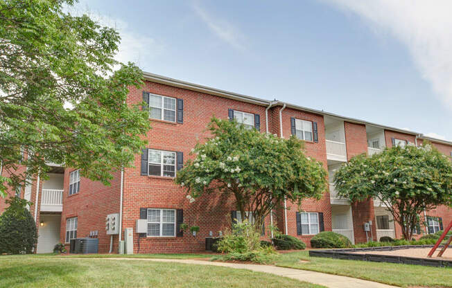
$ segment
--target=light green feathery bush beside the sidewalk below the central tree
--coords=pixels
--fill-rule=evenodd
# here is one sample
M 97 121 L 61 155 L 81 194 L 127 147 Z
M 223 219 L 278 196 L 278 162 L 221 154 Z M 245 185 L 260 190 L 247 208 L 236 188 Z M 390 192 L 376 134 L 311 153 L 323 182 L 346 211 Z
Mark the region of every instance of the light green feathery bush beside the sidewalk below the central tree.
M 261 233 L 246 220 L 232 225 L 232 231 L 227 231 L 216 246 L 223 255 L 215 256 L 221 261 L 251 261 L 270 263 L 277 255 L 273 246 L 261 245 Z

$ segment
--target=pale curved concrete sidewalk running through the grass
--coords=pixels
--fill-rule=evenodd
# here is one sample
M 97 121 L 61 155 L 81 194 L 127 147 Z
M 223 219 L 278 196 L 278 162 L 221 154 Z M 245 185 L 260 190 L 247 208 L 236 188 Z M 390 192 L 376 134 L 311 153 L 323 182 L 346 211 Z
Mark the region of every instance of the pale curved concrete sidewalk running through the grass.
M 86 259 L 86 258 L 67 258 L 67 259 Z M 292 268 L 276 267 L 270 265 L 257 265 L 257 264 L 237 264 L 226 262 L 211 262 L 204 260 L 182 260 L 182 259 L 157 259 L 157 258 L 89 258 L 89 259 L 102 259 L 102 260 L 141 260 L 141 261 L 155 261 L 155 262 L 176 262 L 184 264 L 197 264 L 197 265 L 214 265 L 221 267 L 229 267 L 235 269 L 247 269 L 256 272 L 270 273 L 277 276 L 284 276 L 288 278 L 297 279 L 300 281 L 311 282 L 313 284 L 324 285 L 331 288 L 389 288 L 396 287 L 381 284 L 379 282 L 372 282 L 367 280 L 361 280 L 357 278 L 351 278 L 346 276 L 337 276 L 327 273 L 320 273 L 314 271 L 306 271 Z

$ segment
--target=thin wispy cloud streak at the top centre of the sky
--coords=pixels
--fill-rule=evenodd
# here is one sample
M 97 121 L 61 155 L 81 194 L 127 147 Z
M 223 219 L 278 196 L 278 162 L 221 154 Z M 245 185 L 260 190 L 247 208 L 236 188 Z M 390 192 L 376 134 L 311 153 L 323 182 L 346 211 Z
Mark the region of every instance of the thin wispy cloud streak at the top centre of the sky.
M 239 51 L 245 50 L 245 36 L 234 28 L 232 24 L 224 19 L 211 15 L 210 12 L 202 8 L 196 1 L 193 2 L 192 7 L 196 15 L 200 17 L 216 37 Z

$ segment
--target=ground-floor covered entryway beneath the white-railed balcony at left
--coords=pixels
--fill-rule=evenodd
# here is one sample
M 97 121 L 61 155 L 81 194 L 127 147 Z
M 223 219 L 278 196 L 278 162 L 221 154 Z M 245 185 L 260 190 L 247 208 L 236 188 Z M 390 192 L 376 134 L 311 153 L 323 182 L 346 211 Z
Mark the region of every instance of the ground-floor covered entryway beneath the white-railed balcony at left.
M 53 247 L 60 242 L 61 214 L 41 214 L 37 237 L 37 253 L 52 253 Z

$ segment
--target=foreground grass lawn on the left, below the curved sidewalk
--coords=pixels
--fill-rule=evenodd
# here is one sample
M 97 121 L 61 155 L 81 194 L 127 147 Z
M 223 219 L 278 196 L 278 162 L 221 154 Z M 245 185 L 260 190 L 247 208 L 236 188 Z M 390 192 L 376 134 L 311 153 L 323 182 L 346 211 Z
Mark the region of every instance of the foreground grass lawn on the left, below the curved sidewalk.
M 204 265 L 143 260 L 0 256 L 0 287 L 322 286 L 267 273 Z

